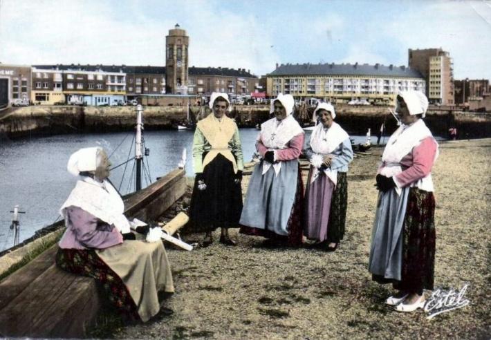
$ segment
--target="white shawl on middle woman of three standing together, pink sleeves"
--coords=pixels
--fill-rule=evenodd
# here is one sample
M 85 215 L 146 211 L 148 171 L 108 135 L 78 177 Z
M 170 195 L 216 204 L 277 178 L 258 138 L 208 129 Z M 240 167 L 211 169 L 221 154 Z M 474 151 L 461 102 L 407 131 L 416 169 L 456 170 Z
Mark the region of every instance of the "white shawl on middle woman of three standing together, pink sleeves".
M 292 115 L 288 115 L 284 120 L 278 121 L 276 118 L 271 118 L 261 124 L 258 140 L 261 140 L 264 146 L 268 148 L 268 151 L 275 151 L 286 149 L 288 142 L 300 133 L 304 133 L 304 130 Z M 268 172 L 271 166 L 275 169 L 276 176 L 278 176 L 281 170 L 281 161 L 276 164 L 264 161 L 262 174 L 264 175 Z

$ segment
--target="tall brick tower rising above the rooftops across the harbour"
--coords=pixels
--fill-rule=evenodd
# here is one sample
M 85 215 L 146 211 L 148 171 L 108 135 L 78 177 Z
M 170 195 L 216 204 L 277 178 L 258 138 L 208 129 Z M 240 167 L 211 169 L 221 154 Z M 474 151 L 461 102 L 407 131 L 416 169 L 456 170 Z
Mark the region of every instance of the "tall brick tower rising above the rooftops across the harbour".
M 166 93 L 187 94 L 187 68 L 189 37 L 176 23 L 165 37 L 165 84 Z

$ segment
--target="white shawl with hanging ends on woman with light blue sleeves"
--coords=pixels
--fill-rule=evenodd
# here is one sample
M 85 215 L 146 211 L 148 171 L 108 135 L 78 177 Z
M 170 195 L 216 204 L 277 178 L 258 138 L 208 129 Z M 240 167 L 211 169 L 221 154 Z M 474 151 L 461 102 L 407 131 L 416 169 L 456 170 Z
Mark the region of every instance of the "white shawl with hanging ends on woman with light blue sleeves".
M 319 177 L 319 168 L 322 165 L 323 155 L 332 153 L 339 145 L 349 138 L 348 133 L 342 129 L 340 124 L 333 122 L 329 129 L 324 129 L 322 123 L 317 124 L 311 135 L 311 148 L 314 155 L 311 158 L 314 171 L 312 174 L 311 182 L 315 181 Z M 317 160 L 315 160 L 317 158 Z M 319 164 L 318 160 L 322 160 Z M 337 184 L 337 170 L 331 168 L 324 169 L 324 173 L 334 185 Z

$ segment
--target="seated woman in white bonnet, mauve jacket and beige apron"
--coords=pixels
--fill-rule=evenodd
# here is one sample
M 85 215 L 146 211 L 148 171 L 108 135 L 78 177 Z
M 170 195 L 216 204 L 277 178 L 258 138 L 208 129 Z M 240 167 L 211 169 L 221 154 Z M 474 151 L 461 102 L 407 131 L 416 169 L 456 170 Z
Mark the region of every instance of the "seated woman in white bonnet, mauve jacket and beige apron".
M 68 171 L 80 175 L 60 209 L 66 232 L 59 241 L 57 265 L 102 284 L 109 301 L 131 319 L 148 321 L 160 310 L 158 292 L 174 292 L 162 241 L 124 240 L 130 224 L 122 199 L 106 180 L 111 163 L 103 149 L 80 149 Z

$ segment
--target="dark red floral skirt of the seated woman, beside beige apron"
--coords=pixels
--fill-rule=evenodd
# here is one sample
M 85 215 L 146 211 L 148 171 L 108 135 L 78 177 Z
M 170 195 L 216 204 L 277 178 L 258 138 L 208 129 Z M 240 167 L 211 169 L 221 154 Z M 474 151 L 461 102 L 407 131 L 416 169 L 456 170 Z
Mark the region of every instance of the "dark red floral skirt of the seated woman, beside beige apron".
M 131 320 L 138 320 L 136 304 L 121 278 L 109 268 L 93 249 L 62 249 L 56 254 L 56 264 L 62 270 L 73 274 L 95 278 L 109 301 Z

